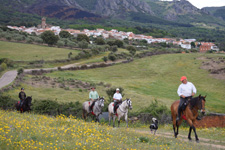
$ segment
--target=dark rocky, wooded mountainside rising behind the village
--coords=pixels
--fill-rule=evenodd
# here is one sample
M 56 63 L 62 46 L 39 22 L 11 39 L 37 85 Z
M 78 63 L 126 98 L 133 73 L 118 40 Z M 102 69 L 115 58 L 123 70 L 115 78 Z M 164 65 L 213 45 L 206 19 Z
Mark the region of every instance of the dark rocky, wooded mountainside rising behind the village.
M 0 3 L 0 25 L 33 26 L 45 16 L 49 24 L 61 27 L 88 23 L 141 29 L 157 37 L 173 35 L 208 41 L 225 38 L 220 30 L 225 29 L 224 8 L 198 9 L 187 0 L 0 0 Z

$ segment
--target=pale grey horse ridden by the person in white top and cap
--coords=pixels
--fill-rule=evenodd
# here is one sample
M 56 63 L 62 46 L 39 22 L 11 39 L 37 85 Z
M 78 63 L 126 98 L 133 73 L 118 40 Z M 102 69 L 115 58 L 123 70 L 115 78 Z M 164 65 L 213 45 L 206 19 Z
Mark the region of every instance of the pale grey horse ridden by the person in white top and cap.
M 128 108 L 129 109 L 132 109 L 132 101 L 131 99 L 126 99 L 124 100 L 120 105 L 119 107 L 117 108 L 116 110 L 116 114 L 113 113 L 113 107 L 114 106 L 114 102 L 111 102 L 108 106 L 108 111 L 109 111 L 109 126 L 111 124 L 111 118 L 113 117 L 113 127 L 115 127 L 115 119 L 116 119 L 116 116 L 118 117 L 118 127 L 120 125 L 120 118 L 121 117 L 125 117 L 125 121 L 127 123 L 127 127 L 128 127 L 128 120 L 127 120 L 127 117 L 128 117 Z

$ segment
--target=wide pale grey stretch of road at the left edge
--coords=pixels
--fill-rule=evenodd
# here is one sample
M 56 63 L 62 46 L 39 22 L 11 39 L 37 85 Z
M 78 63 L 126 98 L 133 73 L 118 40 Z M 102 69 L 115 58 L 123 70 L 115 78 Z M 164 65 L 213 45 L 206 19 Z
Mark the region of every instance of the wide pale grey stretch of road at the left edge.
M 3 74 L 3 76 L 0 78 L 0 89 L 13 82 L 16 76 L 17 76 L 16 70 L 8 71 L 5 74 Z

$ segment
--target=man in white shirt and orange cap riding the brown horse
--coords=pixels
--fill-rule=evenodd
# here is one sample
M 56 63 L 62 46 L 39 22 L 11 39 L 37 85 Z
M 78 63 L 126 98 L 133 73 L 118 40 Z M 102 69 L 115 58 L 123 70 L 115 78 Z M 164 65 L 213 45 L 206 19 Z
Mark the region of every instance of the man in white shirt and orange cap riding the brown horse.
M 182 105 L 188 100 L 191 99 L 192 96 L 194 96 L 197 92 L 194 84 L 187 81 L 186 76 L 182 76 L 180 78 L 180 81 L 182 82 L 180 86 L 178 87 L 177 94 L 180 96 L 180 104 L 178 106 L 178 116 L 176 118 L 177 121 L 180 120 L 180 114 L 181 114 L 181 107 Z

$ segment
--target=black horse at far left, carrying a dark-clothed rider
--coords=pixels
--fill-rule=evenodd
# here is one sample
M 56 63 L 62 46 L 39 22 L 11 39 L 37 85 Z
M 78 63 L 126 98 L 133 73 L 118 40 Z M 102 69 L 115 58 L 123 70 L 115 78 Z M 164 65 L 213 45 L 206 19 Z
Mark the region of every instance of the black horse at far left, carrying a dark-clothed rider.
M 30 111 L 31 108 L 31 101 L 32 101 L 32 96 L 28 96 L 26 97 L 26 99 L 23 101 L 23 104 L 22 106 L 20 106 L 20 101 L 18 101 L 16 104 L 15 104 L 15 107 L 16 107 L 16 110 L 17 111 L 20 111 L 21 113 L 25 112 L 25 111 Z

